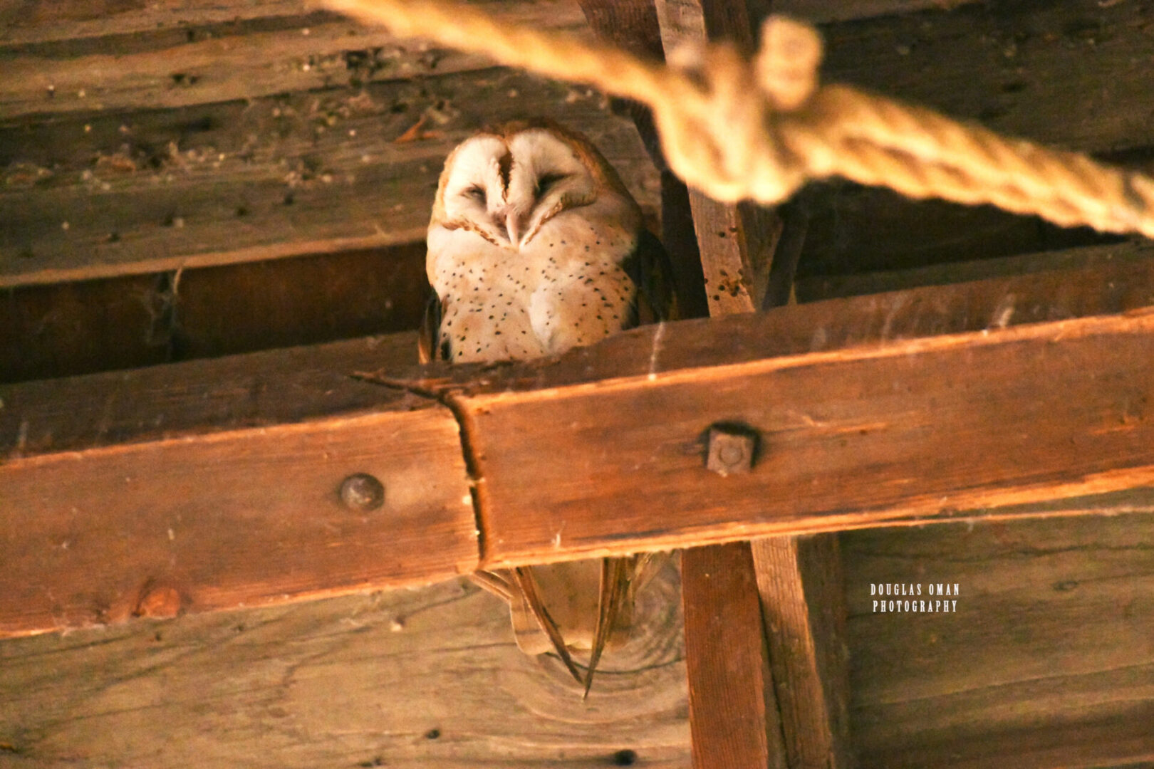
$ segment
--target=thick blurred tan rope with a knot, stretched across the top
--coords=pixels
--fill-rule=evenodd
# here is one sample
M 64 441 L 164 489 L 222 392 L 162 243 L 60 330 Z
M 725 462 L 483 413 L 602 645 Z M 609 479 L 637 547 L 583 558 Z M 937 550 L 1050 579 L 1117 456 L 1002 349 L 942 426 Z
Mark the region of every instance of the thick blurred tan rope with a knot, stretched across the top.
M 727 44 L 680 48 L 668 66 L 619 48 L 499 24 L 440 0 L 321 0 L 399 37 L 486 54 L 650 106 L 669 167 L 722 202 L 771 205 L 811 179 L 842 176 L 908 197 L 992 203 L 1062 226 L 1154 238 L 1154 180 L 962 125 L 844 85 L 818 85 L 817 32 L 762 27 L 752 61 Z

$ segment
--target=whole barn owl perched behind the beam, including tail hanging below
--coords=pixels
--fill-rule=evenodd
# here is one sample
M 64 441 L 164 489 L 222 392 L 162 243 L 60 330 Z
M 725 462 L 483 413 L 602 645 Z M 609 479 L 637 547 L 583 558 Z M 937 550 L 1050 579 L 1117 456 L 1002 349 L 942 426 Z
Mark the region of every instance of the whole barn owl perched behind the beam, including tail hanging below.
M 435 295 L 422 362 L 527 360 L 673 317 L 668 257 L 589 140 L 552 121 L 484 130 L 448 157 L 428 229 Z M 649 556 L 474 575 L 509 602 L 517 644 L 555 650 L 585 693 L 630 621 Z M 584 680 L 570 649 L 589 650 Z

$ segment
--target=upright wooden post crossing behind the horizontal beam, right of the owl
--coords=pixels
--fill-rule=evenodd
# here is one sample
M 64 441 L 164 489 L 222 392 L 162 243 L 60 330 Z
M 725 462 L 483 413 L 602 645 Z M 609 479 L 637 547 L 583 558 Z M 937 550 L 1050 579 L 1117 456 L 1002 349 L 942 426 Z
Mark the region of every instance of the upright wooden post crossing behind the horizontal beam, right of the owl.
M 751 53 L 754 30 L 767 10 L 757 0 L 655 0 L 655 6 L 667 52 L 724 37 Z M 692 189 L 689 201 L 710 315 L 787 302 L 804 217 L 792 223 L 787 252 L 775 265 L 784 229 L 777 212 L 719 203 Z M 834 535 L 687 550 L 682 586 L 694 766 L 849 766 Z

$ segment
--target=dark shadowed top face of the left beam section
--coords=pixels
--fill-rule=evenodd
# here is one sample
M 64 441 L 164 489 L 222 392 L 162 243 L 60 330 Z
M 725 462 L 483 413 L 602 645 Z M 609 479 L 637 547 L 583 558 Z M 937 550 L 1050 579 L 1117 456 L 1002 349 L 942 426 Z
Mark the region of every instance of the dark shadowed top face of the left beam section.
M 417 333 L 0 385 L 0 461 L 298 424 L 428 399 L 357 382 L 362 367 L 404 368 Z

